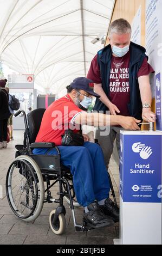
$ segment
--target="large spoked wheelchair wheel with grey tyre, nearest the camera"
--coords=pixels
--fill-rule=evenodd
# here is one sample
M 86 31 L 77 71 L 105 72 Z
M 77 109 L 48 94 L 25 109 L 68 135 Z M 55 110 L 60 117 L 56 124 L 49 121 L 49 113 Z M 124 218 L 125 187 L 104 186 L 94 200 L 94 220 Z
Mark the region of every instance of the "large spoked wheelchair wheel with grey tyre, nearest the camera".
M 25 222 L 36 220 L 44 202 L 40 168 L 31 157 L 22 155 L 11 163 L 6 179 L 7 198 L 14 214 Z

